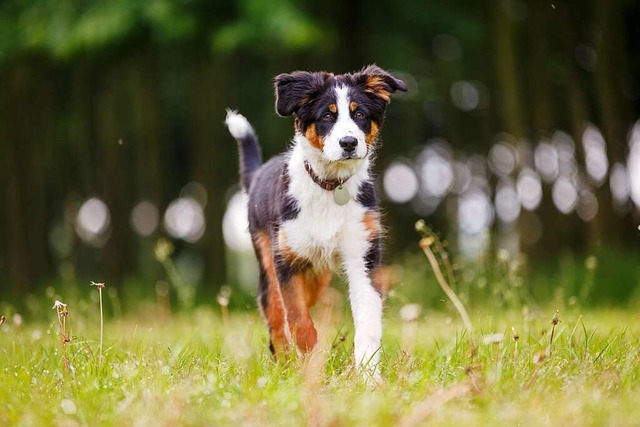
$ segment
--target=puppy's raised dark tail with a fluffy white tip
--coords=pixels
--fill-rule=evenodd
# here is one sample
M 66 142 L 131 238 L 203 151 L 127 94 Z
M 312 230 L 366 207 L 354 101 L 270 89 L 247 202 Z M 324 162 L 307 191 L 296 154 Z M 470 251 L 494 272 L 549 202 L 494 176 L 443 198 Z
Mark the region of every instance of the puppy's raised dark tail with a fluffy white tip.
M 225 119 L 229 133 L 238 141 L 240 155 L 240 181 L 245 190 L 249 190 L 255 171 L 262 164 L 262 153 L 258 138 L 251 124 L 242 114 L 227 110 Z

